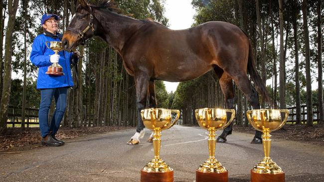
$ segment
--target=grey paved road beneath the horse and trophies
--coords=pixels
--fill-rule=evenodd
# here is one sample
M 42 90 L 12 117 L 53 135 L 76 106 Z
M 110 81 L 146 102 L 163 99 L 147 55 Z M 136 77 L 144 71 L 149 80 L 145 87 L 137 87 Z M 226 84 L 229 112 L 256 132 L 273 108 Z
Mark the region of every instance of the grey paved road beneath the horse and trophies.
M 0 153 L 0 182 L 139 182 L 141 168 L 153 158 L 153 145 L 126 145 L 134 131 L 80 137 L 63 147 Z M 199 127 L 174 126 L 162 132 L 161 157 L 174 169 L 174 182 L 194 181 L 195 169 L 208 158 L 206 136 Z M 216 159 L 229 171 L 229 182 L 249 182 L 250 169 L 263 158 L 262 145 L 249 143 L 252 137 L 233 132 L 228 143 L 216 144 Z M 286 182 L 324 182 L 324 146 L 273 139 L 271 149 Z M 110 174 L 86 175 L 103 170 Z

